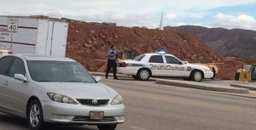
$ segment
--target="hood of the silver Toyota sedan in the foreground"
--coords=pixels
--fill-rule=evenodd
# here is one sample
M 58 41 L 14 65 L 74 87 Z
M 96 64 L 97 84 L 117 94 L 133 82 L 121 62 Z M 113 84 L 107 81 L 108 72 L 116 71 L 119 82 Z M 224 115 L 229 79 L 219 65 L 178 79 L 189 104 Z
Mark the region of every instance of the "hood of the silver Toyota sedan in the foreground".
M 60 93 L 73 99 L 113 99 L 118 93 L 102 83 L 84 82 L 38 82 L 48 91 Z

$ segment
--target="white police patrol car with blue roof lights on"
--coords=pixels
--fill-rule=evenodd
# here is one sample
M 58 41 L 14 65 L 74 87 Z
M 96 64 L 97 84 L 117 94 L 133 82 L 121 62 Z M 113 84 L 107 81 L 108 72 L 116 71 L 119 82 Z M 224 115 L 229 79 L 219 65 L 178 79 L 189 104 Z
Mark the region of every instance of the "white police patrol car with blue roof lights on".
M 142 81 L 147 81 L 150 76 L 172 76 L 201 82 L 203 78 L 213 76 L 209 67 L 185 63 L 165 52 L 141 54 L 133 60 L 119 60 L 117 72 Z

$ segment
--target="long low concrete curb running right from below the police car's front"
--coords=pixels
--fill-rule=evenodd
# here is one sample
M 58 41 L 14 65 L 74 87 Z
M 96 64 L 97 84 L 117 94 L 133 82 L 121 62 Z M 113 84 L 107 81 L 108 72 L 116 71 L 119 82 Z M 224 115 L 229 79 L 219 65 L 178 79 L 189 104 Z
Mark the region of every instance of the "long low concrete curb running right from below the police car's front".
M 207 91 L 218 91 L 218 92 L 227 92 L 227 93 L 249 93 L 249 89 L 247 88 L 233 88 L 226 87 L 221 85 L 214 85 L 209 83 L 202 82 L 186 82 L 186 81 L 174 81 L 174 80 L 162 80 L 157 79 L 155 81 L 158 84 L 172 85 L 182 88 L 195 88 Z

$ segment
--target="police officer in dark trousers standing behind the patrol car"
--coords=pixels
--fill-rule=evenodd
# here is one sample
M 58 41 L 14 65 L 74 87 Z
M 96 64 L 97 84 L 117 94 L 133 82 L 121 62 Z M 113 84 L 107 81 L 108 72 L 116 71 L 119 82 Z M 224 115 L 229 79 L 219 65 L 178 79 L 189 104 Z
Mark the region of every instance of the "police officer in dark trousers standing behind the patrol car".
M 118 80 L 119 78 L 116 76 L 116 58 L 118 56 L 119 51 L 116 50 L 116 47 L 114 45 L 111 46 L 110 50 L 108 51 L 108 65 L 107 65 L 107 71 L 105 77 L 108 79 L 108 73 L 111 68 L 113 68 L 113 79 Z

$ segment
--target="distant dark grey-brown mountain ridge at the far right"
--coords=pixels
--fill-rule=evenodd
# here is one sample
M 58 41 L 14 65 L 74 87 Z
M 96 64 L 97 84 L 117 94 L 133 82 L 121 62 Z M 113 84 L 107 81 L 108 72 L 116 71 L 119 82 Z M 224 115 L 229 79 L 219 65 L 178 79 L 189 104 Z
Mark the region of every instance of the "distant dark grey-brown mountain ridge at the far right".
M 192 33 L 200 37 L 218 54 L 243 59 L 256 58 L 256 31 L 206 28 L 194 25 L 167 26 L 165 30 Z

